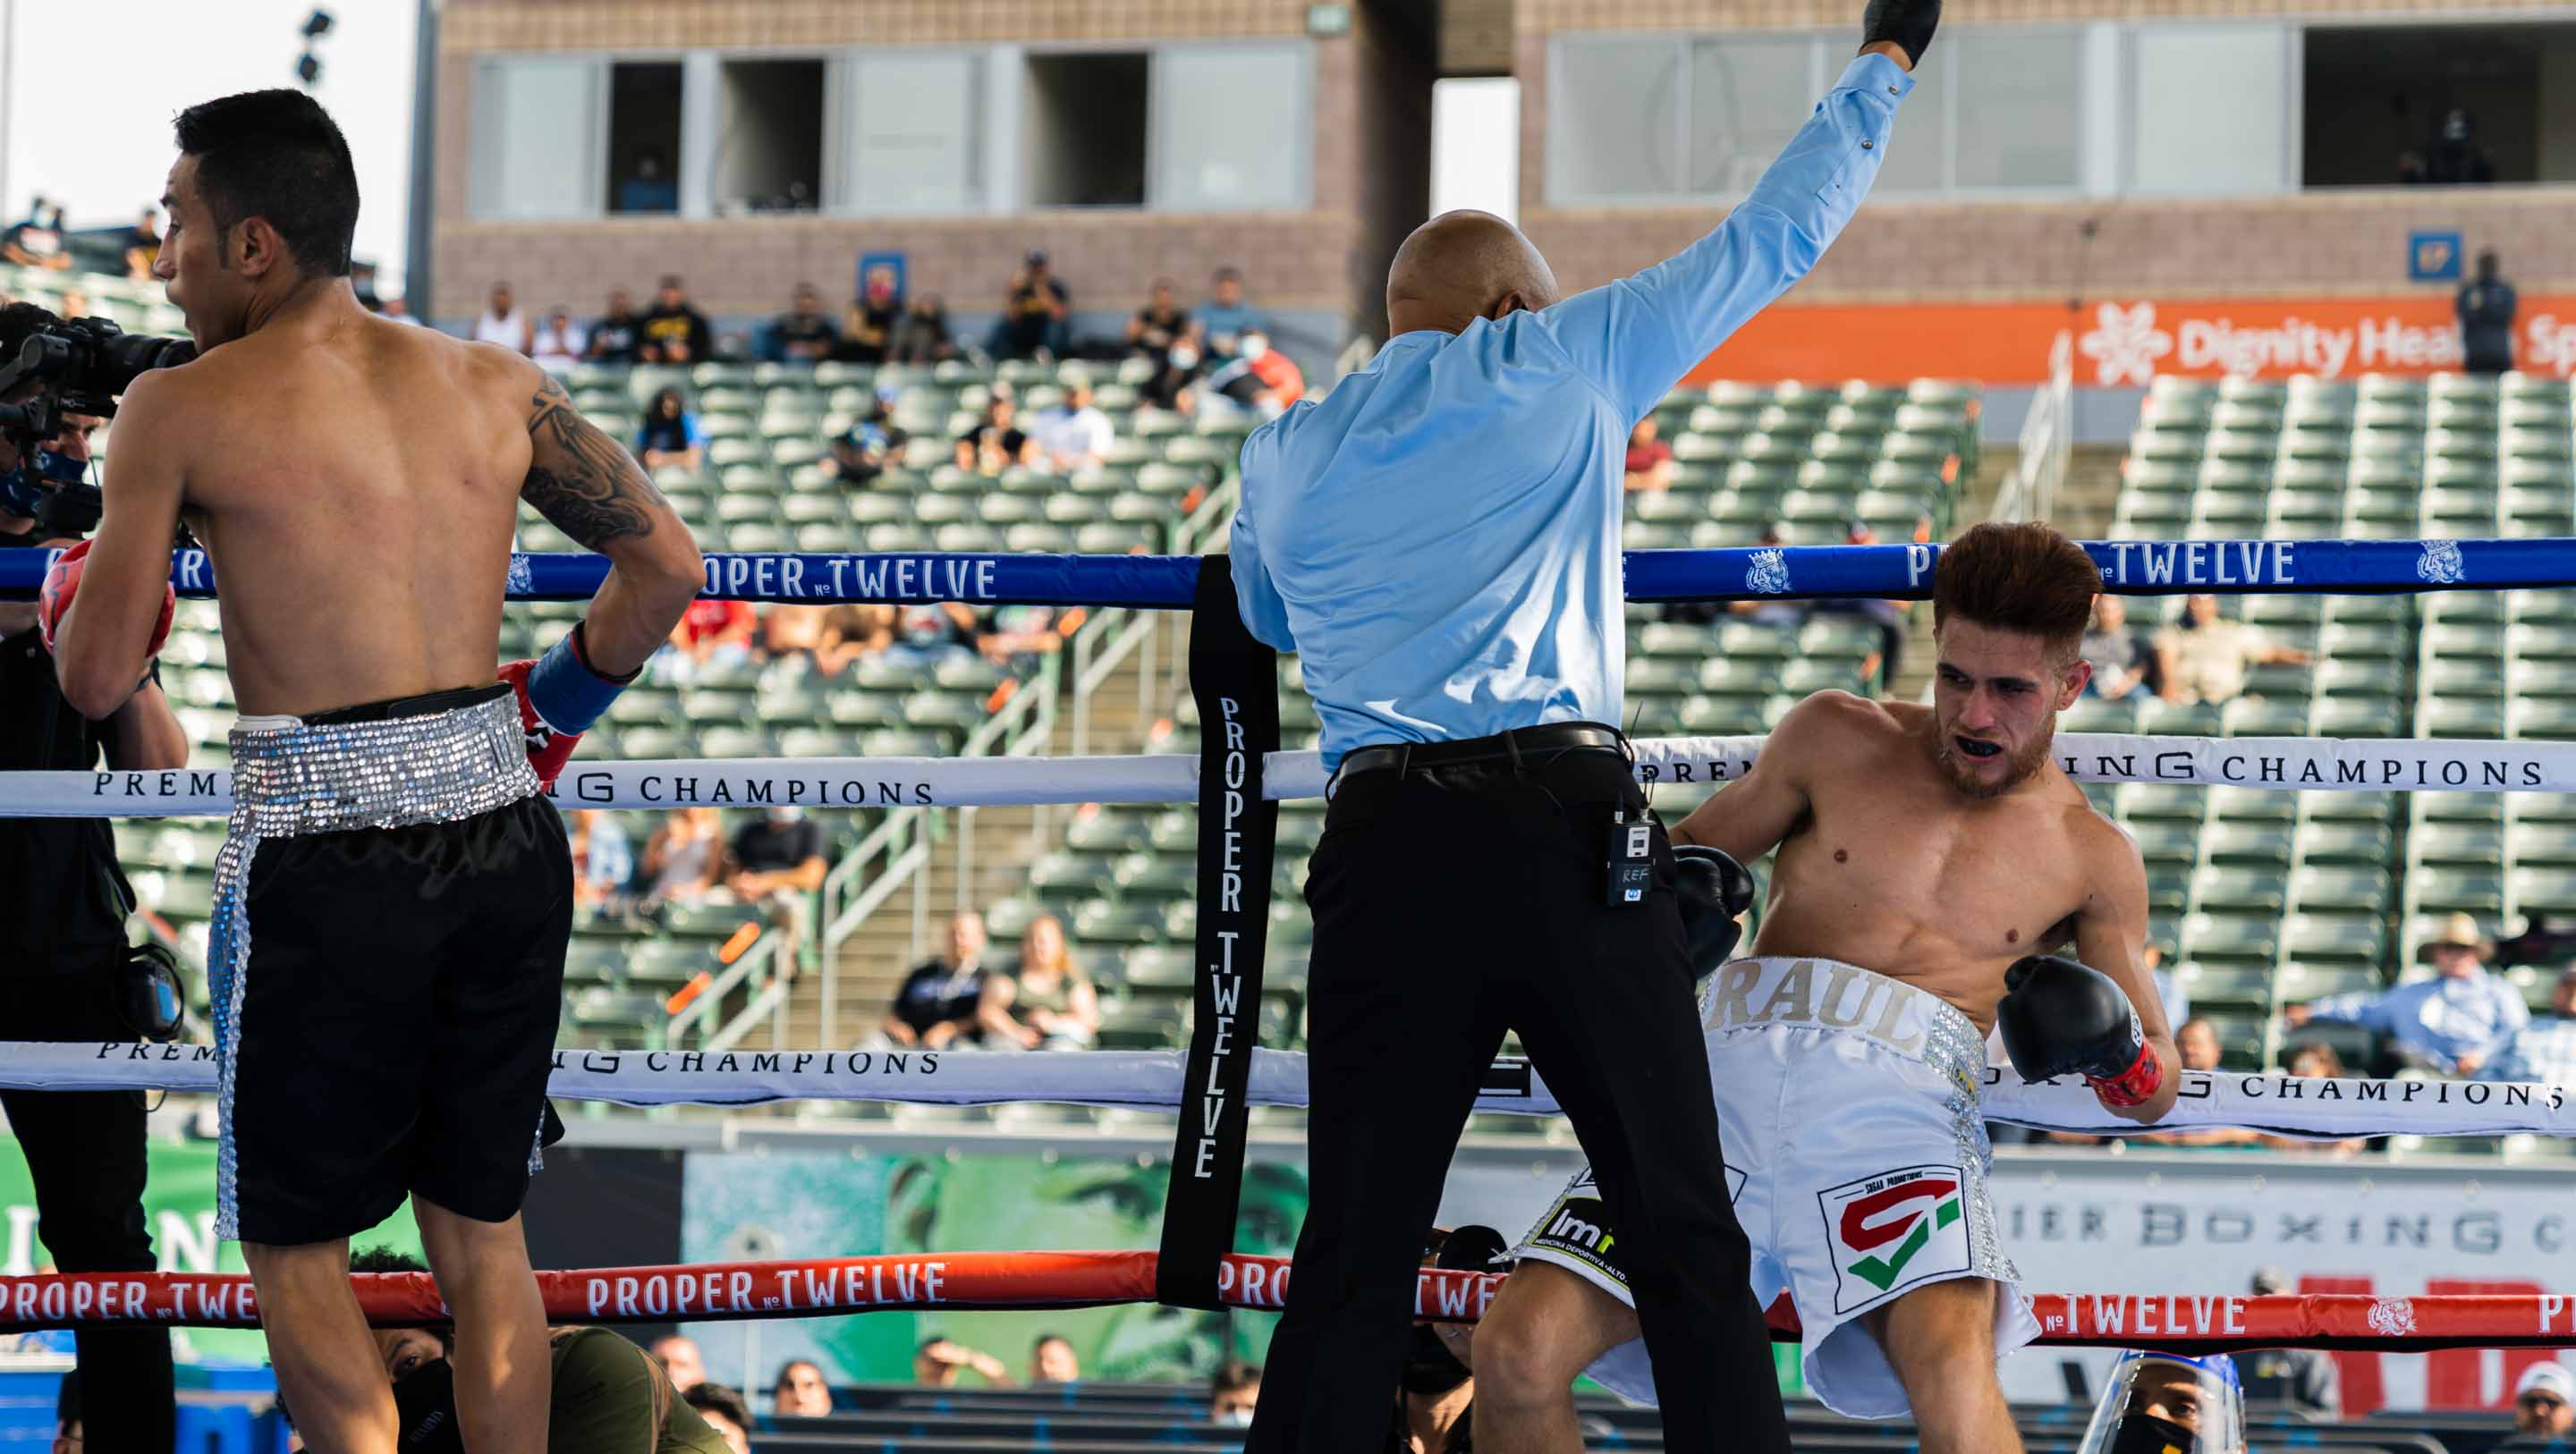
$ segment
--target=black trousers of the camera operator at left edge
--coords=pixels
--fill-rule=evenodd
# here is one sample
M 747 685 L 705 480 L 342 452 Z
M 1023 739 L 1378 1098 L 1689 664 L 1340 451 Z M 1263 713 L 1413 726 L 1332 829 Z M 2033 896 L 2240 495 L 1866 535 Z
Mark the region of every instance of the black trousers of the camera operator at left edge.
M 124 952 L 93 970 L 0 978 L 10 1040 L 134 1040 L 118 1011 Z M 36 1184 L 36 1238 L 57 1271 L 152 1271 L 142 1091 L 5 1091 L 0 1109 Z M 178 1439 L 167 1328 L 77 1328 L 88 1449 L 157 1454 Z

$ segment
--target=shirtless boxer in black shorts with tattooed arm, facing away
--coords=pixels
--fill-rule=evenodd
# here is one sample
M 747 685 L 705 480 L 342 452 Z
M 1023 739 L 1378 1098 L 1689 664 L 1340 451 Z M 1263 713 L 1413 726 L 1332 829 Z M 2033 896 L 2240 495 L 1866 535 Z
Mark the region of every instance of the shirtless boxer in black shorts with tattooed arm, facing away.
M 180 520 L 222 589 L 232 836 L 209 980 L 222 1235 L 309 1449 L 394 1454 L 348 1238 L 404 1197 L 456 1315 L 466 1449 L 546 1449 L 536 1168 L 572 924 L 541 787 L 670 636 L 698 546 L 526 358 L 350 291 L 358 180 L 304 93 L 188 108 L 155 275 L 198 360 L 118 409 L 106 515 L 41 620 L 103 718 L 144 674 Z M 590 615 L 492 661 L 518 502 L 611 558 Z

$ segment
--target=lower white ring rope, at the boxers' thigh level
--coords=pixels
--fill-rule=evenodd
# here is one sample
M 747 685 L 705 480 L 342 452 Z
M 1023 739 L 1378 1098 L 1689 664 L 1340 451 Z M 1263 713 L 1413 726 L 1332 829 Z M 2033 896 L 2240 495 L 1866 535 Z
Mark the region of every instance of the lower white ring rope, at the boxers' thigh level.
M 1175 1112 L 1182 1050 L 556 1050 L 549 1096 L 621 1107 L 750 1107 L 765 1101 L 902 1101 L 994 1107 L 1048 1101 Z M 1499 1060 L 1479 1112 L 1561 1114 L 1528 1063 Z M 0 1042 L 8 1091 L 214 1091 L 211 1045 Z M 1247 1101 L 1306 1104 L 1306 1055 L 1255 1050 Z M 1193 1096 L 1195 1104 L 1195 1096 Z M 2076 1081 L 2025 1083 L 1986 1071 L 1984 1119 L 2032 1130 L 2141 1135 L 2244 1127 L 2344 1140 L 2354 1135 L 2576 1135 L 2576 1089 L 2501 1081 L 2324 1081 L 2257 1071 L 2184 1071 L 2182 1096 L 2154 1127 L 2110 1114 Z

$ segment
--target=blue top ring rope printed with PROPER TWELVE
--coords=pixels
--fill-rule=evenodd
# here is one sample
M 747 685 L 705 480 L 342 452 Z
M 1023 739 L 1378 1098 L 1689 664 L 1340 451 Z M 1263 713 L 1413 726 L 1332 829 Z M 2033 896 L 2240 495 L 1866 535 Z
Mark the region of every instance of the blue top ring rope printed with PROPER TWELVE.
M 2524 540 L 2089 540 L 2117 594 L 2391 594 L 2576 587 L 2576 538 Z M 1927 600 L 1940 546 L 1628 551 L 1628 600 Z M 52 551 L 0 551 L 0 600 L 33 600 Z M 510 600 L 590 600 L 608 561 L 513 556 Z M 201 551 L 170 579 L 211 597 Z M 1198 556 L 706 556 L 711 600 L 1128 605 L 1188 610 Z

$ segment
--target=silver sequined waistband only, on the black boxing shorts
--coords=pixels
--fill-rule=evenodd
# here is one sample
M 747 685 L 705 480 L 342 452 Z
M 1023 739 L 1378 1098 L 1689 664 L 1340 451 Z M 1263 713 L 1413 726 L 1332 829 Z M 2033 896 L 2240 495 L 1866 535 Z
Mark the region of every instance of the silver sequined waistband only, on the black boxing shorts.
M 536 793 L 518 703 L 314 726 L 232 726 L 232 829 L 258 836 L 453 824 Z

